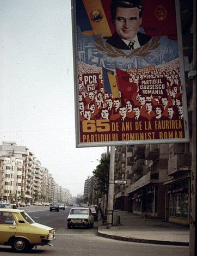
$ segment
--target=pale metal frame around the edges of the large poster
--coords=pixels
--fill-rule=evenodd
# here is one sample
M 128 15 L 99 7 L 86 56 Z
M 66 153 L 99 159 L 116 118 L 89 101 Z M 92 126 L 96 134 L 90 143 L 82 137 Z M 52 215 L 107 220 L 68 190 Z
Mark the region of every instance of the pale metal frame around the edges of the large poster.
M 72 41 L 73 41 L 73 74 L 74 74 L 74 93 L 75 93 L 75 124 L 76 124 L 76 147 L 103 147 L 103 146 L 118 146 L 118 145 L 138 145 L 138 144 L 160 144 L 160 143 L 186 143 L 189 142 L 189 127 L 187 115 L 187 100 L 186 100 L 186 84 L 184 77 L 183 64 L 183 48 L 182 48 L 182 33 L 181 33 L 181 15 L 179 0 L 175 0 L 176 6 L 176 25 L 178 37 L 178 58 L 180 61 L 180 78 L 182 87 L 183 100 L 183 115 L 184 115 L 184 138 L 168 138 L 168 139 L 144 139 L 132 141 L 105 141 L 105 142 L 80 142 L 80 126 L 79 126 L 79 100 L 78 100 L 78 50 L 77 50 L 77 19 L 76 19 L 76 2 L 71 0 L 72 9 Z

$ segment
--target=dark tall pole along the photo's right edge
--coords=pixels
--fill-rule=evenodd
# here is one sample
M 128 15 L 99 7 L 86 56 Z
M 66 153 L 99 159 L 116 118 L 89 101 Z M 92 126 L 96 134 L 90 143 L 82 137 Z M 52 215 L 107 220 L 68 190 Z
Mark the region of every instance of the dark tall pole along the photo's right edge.
M 189 256 L 197 255 L 197 182 L 196 182 L 196 0 L 194 0 L 193 20 L 193 63 L 189 71 L 189 78 L 193 79 L 193 113 L 192 113 L 192 181 L 191 181 L 191 205 L 190 205 L 190 234 L 189 234 Z

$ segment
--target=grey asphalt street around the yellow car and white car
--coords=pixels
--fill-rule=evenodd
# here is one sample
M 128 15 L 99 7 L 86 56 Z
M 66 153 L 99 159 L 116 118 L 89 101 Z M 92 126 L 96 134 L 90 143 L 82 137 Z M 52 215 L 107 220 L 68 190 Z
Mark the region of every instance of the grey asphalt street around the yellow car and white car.
M 50 212 L 48 206 L 31 206 L 21 208 L 28 212 L 34 221 L 56 229 L 56 240 L 53 246 L 38 246 L 23 255 L 94 255 L 94 256 L 188 256 L 189 248 L 184 246 L 150 245 L 148 243 L 132 243 L 97 236 L 97 225 L 93 229 L 67 229 L 66 217 L 70 208 L 59 212 Z M 9 246 L 0 246 L 0 256 L 13 256 Z

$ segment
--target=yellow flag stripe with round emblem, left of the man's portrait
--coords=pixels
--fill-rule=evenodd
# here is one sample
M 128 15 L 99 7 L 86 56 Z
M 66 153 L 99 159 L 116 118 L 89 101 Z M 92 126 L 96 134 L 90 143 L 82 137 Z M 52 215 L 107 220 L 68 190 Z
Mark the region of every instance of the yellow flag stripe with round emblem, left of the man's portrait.
M 83 34 L 93 35 L 94 33 L 95 35 L 102 34 L 103 37 L 111 36 L 112 32 L 104 14 L 101 0 L 83 0 L 83 4 L 93 28 L 93 31 L 84 31 Z

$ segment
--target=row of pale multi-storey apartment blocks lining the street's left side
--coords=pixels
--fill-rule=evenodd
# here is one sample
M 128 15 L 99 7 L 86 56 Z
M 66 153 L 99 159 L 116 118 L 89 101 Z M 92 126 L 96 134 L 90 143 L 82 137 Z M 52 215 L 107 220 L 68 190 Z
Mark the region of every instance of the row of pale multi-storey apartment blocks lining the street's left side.
M 3 142 L 0 145 L 0 200 L 30 204 L 62 202 L 63 191 L 27 147 Z

